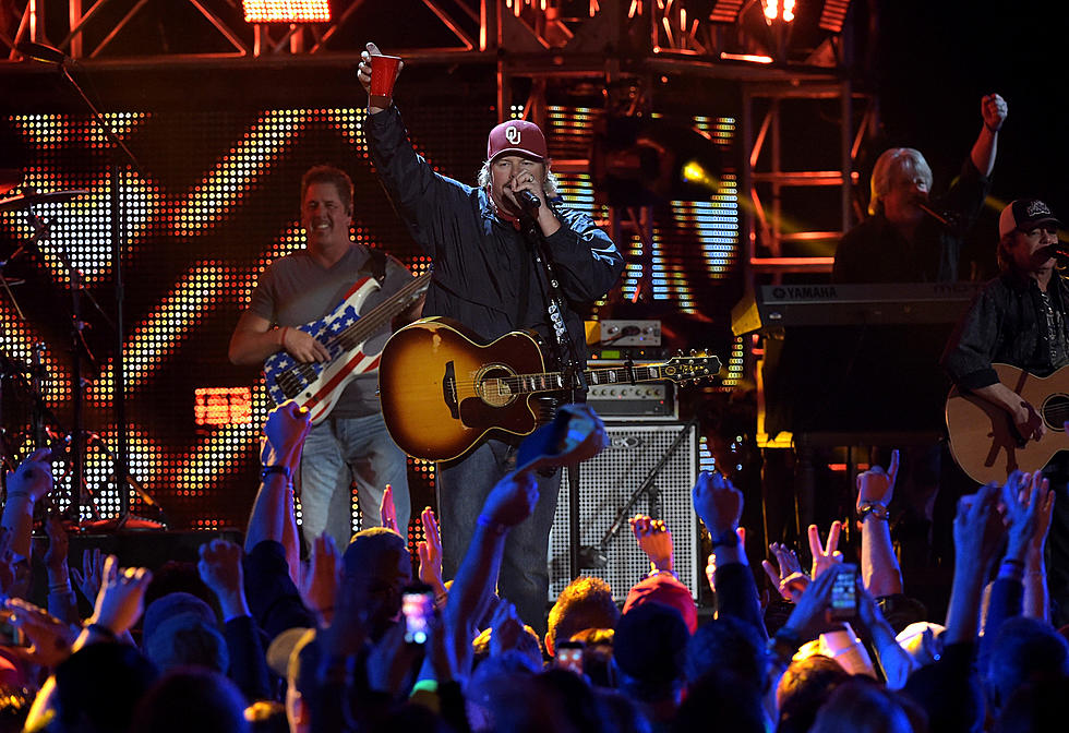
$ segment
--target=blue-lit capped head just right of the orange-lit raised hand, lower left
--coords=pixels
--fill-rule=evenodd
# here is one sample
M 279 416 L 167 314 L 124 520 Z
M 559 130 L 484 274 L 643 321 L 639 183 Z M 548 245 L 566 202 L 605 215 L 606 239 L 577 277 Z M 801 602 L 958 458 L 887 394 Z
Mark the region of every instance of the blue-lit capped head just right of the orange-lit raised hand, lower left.
M 191 664 L 226 672 L 230 665 L 215 613 L 190 593 L 168 593 L 145 609 L 142 649 L 161 672 Z

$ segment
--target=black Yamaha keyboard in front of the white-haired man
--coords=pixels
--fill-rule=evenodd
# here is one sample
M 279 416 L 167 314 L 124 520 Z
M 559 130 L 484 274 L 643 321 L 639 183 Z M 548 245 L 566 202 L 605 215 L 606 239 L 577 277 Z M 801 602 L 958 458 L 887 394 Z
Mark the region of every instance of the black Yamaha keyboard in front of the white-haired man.
M 953 324 L 983 287 L 983 283 L 766 285 L 758 289 L 756 303 L 744 300 L 733 309 L 732 329 L 741 335 L 783 326 Z

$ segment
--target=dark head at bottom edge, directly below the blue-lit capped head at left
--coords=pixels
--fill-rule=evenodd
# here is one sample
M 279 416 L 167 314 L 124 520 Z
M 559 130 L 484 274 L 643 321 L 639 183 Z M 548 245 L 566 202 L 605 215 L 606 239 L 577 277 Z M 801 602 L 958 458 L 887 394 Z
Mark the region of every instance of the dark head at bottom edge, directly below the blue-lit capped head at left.
M 141 699 L 131 733 L 248 733 L 245 701 L 227 677 L 205 669 L 172 670 Z

